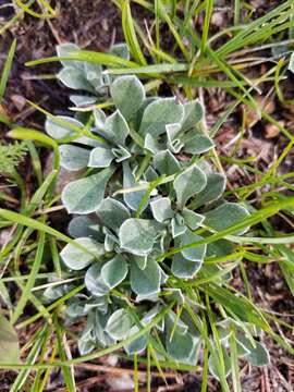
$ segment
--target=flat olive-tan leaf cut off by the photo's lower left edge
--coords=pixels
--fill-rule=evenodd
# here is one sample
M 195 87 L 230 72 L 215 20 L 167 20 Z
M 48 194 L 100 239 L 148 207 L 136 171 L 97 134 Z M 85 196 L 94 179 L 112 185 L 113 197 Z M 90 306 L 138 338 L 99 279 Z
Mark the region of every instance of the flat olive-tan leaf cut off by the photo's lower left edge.
M 0 315 L 0 366 L 1 363 L 19 364 L 20 362 L 17 333 L 9 320 Z

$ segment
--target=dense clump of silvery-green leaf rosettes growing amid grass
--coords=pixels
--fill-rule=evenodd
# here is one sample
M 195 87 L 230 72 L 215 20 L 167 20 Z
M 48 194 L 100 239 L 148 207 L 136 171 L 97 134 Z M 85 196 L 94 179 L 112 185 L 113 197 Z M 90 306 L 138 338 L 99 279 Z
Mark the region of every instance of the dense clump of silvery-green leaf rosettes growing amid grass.
M 69 79 L 78 75 L 91 83 L 103 75 L 98 66 L 85 76 L 88 65 L 82 65 L 66 63 L 60 79 L 84 88 L 88 84 Z M 233 335 L 238 356 L 267 364 L 267 351 L 255 340 L 259 315 L 250 319 L 238 308 L 223 318 L 216 311 L 212 333 L 201 317 L 200 294 L 191 289 L 213 278 L 213 295 L 225 297 L 230 271 L 206 260 L 218 260 L 234 245 L 211 241 L 211 234 L 249 216 L 243 205 L 224 200 L 225 176 L 204 155 L 215 144 L 203 132 L 201 103 L 146 97 L 134 75 L 108 79 L 103 94 L 109 96 L 106 111 L 96 105 L 87 115 L 46 122 L 49 135 L 59 139 L 61 164 L 83 171 L 62 192 L 63 205 L 74 215 L 69 233 L 76 246 L 68 244 L 60 254 L 65 268 L 85 282 L 85 292 L 66 309 L 73 320 L 87 317 L 81 353 L 122 342 L 127 354 L 151 347 L 158 358 L 195 365 L 205 343 L 211 348 L 210 371 L 220 377 L 221 366 L 230 370 Z M 256 323 L 262 328 L 264 322 Z M 222 360 L 213 351 L 215 333 Z

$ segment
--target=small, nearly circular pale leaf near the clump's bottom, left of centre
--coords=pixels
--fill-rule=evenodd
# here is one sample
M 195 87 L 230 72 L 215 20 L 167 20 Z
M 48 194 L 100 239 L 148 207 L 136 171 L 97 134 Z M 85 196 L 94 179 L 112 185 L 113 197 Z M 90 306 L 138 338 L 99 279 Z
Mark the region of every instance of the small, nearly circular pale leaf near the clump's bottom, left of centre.
M 106 331 L 111 338 L 123 340 L 131 335 L 130 331 L 133 324 L 134 320 L 130 311 L 126 309 L 119 309 L 108 319 Z

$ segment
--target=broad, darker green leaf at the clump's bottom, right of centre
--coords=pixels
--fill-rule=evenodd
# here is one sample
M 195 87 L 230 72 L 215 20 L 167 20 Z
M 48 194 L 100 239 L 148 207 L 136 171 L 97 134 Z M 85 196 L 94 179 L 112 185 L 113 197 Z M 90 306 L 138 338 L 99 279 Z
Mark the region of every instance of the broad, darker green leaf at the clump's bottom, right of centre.
M 196 340 L 189 332 L 181 333 L 175 328 L 173 334 L 166 335 L 166 348 L 169 355 L 176 362 L 189 363 L 192 353 L 195 351 Z M 191 364 L 189 364 L 191 365 Z

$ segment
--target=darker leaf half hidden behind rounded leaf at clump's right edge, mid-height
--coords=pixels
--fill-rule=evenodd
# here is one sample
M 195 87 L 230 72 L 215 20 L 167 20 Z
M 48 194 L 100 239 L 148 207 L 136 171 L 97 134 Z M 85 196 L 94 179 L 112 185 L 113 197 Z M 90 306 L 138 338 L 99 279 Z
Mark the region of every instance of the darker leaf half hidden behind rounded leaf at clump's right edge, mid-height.
M 206 203 L 217 200 L 225 189 L 225 176 L 219 173 L 208 173 L 206 175 L 206 187 L 197 194 L 195 203 L 196 206 L 203 206 Z

